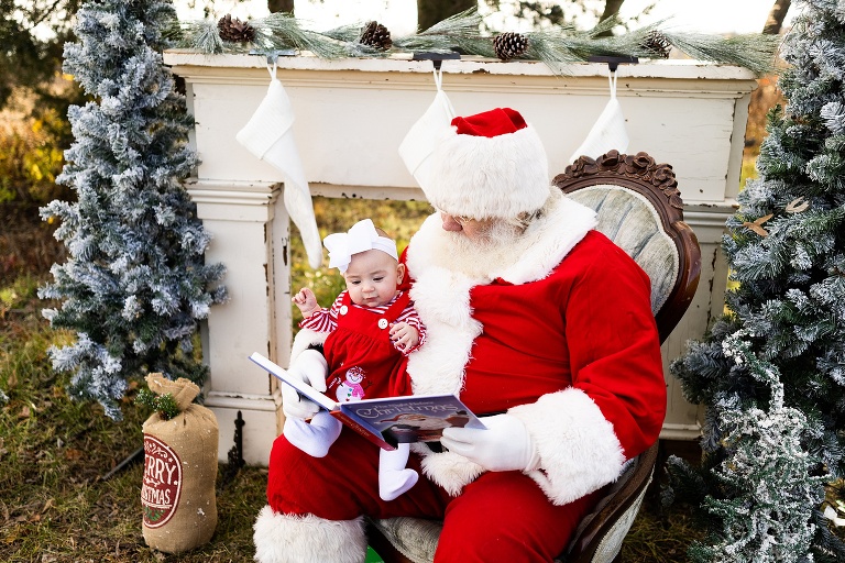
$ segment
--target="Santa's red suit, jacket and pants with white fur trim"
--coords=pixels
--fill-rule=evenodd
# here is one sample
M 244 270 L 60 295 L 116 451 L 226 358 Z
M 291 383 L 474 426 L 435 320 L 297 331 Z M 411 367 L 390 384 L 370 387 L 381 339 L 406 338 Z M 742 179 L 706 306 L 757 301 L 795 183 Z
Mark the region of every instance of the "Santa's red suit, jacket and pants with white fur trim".
M 414 391 L 454 393 L 478 413 L 518 417 L 536 470 L 484 473 L 416 444 L 409 466 L 427 478 L 385 503 L 377 450 L 353 432 L 344 429 L 323 459 L 282 437 L 256 558 L 325 558 L 311 551 L 319 537 L 338 543 L 332 560 L 354 561 L 365 545 L 362 515 L 445 518 L 436 561 L 551 561 L 562 551 L 595 492 L 657 440 L 666 409 L 649 280 L 594 225 L 592 210 L 552 189 L 518 244 L 496 256 L 454 252 L 437 214 L 406 253 L 428 339 L 408 361 Z M 311 542 L 292 544 L 298 536 Z M 273 559 L 279 550 L 295 555 Z

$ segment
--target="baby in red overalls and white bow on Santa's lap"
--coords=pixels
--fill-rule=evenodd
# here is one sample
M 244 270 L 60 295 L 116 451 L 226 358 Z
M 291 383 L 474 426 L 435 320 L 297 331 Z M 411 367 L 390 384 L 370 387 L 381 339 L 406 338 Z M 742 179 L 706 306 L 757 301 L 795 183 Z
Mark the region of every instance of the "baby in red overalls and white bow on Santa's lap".
M 345 291 L 328 309 L 320 308 L 308 288 L 292 301 L 303 313 L 300 328 L 328 333 L 326 394 L 340 402 L 407 395 L 407 355 L 422 345 L 426 331 L 407 291 L 398 289 L 405 265 L 398 262 L 396 243 L 364 219 L 347 233 L 330 234 L 323 244 L 329 266 L 343 275 Z M 288 418 L 284 434 L 304 452 L 322 457 L 340 429 L 337 419 L 321 411 L 310 424 Z M 417 472 L 405 467 L 408 452 L 408 444 L 381 451 L 378 493 L 384 500 L 393 500 L 417 483 Z

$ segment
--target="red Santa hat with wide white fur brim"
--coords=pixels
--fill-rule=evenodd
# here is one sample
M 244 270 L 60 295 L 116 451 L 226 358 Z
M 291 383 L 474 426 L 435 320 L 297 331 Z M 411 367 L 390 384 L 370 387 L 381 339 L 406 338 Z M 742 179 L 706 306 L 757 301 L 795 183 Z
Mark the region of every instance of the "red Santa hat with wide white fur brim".
M 551 189 L 539 135 L 509 108 L 454 118 L 430 165 L 430 181 L 420 187 L 453 216 L 513 219 L 541 208 Z

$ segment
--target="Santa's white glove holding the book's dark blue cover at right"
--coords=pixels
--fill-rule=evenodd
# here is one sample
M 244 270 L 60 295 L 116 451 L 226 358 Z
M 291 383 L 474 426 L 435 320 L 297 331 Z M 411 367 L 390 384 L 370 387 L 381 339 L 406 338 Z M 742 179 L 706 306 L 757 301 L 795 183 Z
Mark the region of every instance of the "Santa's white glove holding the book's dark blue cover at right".
M 511 415 L 496 415 L 482 420 L 486 430 L 447 428 L 440 443 L 487 471 L 530 471 L 540 456 L 525 424 Z

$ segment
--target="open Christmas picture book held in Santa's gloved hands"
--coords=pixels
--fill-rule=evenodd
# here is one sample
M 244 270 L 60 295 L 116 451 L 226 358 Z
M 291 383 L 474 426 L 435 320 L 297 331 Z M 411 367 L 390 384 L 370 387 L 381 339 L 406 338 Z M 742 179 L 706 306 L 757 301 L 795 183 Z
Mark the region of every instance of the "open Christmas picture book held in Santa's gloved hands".
M 440 440 L 445 428 L 485 428 L 454 395 L 410 395 L 338 402 L 255 352 L 250 360 L 384 450 L 398 443 Z

